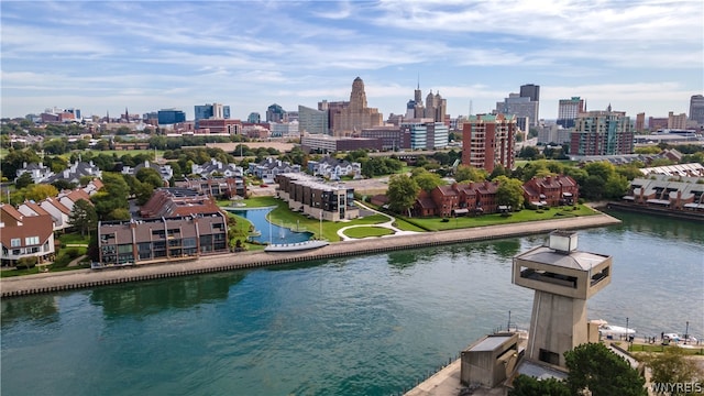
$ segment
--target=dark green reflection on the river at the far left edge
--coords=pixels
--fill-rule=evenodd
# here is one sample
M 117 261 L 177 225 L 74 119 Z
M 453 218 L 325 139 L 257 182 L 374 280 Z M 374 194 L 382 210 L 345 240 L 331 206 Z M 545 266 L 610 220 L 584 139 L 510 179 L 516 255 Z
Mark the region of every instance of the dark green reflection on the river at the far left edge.
M 3 298 L 0 301 L 2 327 L 24 320 L 54 322 L 58 320 L 58 296 L 35 295 Z

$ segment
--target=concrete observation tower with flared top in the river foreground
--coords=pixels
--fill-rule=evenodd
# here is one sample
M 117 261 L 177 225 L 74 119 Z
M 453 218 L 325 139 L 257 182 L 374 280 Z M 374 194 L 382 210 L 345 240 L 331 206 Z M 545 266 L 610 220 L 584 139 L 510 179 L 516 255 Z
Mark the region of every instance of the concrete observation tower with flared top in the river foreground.
M 610 283 L 612 256 L 576 248 L 576 232 L 554 231 L 547 246 L 514 257 L 512 282 L 536 290 L 527 359 L 564 367 L 564 352 L 598 341 L 586 300 Z

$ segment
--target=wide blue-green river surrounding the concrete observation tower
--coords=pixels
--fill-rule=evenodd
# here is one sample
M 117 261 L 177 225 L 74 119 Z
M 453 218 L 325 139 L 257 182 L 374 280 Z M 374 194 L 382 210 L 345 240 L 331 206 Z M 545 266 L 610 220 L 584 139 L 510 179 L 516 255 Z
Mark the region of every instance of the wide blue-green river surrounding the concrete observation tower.
M 579 249 L 614 256 L 590 319 L 704 336 L 704 227 L 615 212 Z M 1 301 L 11 395 L 389 395 L 497 327 L 527 328 L 512 257 L 547 235 Z

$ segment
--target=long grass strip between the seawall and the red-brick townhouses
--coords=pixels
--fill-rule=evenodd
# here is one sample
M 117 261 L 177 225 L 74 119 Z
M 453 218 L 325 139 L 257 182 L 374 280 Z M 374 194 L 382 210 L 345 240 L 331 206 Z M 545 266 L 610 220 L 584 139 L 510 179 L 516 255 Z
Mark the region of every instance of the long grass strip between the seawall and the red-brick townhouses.
M 502 217 L 499 213 L 493 213 L 493 215 L 483 215 L 480 217 L 452 218 L 446 222 L 443 222 L 442 219 L 438 217 L 413 218 L 408 220 L 430 231 L 442 231 L 442 230 L 455 230 L 455 229 L 472 228 L 472 227 L 518 223 L 518 222 L 525 222 L 525 221 L 550 220 L 550 219 L 559 219 L 563 217 L 590 216 L 595 213 L 592 209 L 583 205 L 579 205 L 576 208 L 578 208 L 576 210 L 572 210 L 572 207 L 551 208 L 548 210 L 542 210 L 542 212 L 540 210 L 524 209 L 519 212 L 514 212 L 509 217 Z

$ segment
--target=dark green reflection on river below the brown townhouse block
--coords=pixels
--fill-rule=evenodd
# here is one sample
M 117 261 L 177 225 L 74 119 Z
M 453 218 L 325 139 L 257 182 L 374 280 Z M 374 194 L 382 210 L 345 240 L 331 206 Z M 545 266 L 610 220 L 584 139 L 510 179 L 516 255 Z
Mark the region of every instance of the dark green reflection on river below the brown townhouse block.
M 228 298 L 230 287 L 245 277 L 245 272 L 179 277 L 154 282 L 99 287 L 90 301 L 102 307 L 106 318 L 144 317 L 169 308 L 190 308 Z

